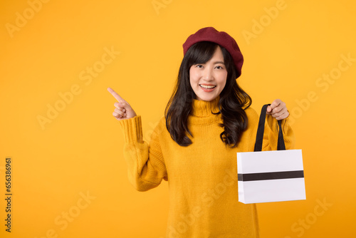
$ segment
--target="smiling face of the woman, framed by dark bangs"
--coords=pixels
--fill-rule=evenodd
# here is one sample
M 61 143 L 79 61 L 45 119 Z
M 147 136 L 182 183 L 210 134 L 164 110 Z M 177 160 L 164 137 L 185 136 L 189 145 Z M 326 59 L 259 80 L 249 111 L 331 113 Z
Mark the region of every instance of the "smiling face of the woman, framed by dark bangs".
M 219 46 L 209 61 L 195 64 L 189 70 L 190 86 L 197 100 L 214 100 L 224 89 L 226 78 L 224 56 Z

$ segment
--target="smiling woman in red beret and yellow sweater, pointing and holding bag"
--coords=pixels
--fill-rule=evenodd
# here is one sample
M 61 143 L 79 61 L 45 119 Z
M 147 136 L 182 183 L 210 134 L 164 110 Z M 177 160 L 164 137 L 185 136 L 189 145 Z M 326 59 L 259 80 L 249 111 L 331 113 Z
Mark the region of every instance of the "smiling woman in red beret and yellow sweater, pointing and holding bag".
M 129 179 L 139 191 L 169 185 L 167 237 L 259 237 L 256 205 L 239 201 L 236 152 L 253 151 L 258 114 L 236 83 L 244 58 L 234 38 L 212 27 L 183 44 L 177 86 L 165 115 L 142 140 L 141 117 L 117 99 L 114 117 L 125 134 Z M 276 150 L 282 120 L 286 148 L 293 148 L 288 110 L 268 107 L 263 150 Z

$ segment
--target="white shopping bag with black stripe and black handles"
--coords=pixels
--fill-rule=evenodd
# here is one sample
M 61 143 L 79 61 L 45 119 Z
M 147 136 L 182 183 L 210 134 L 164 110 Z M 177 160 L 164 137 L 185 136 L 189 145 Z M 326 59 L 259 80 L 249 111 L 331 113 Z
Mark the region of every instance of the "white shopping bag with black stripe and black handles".
M 261 151 L 266 109 L 263 105 L 254 152 L 237 153 L 239 202 L 305 200 L 301 150 L 286 150 L 278 121 L 278 150 Z

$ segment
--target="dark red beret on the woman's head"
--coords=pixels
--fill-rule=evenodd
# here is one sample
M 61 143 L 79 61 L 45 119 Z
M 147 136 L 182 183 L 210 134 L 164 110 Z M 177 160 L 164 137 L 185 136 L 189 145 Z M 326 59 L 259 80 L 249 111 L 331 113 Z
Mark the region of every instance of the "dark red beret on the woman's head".
M 244 57 L 242 56 L 242 53 L 236 41 L 228 33 L 224 31 L 216 31 L 214 27 L 206 27 L 200 29 L 196 33 L 190 35 L 187 38 L 187 41 L 184 42 L 184 55 L 185 53 L 187 53 L 190 46 L 194 45 L 194 43 L 197 43 L 199 41 L 211 41 L 214 43 L 218 43 L 220 46 L 226 48 L 226 50 L 229 51 L 232 58 L 234 59 L 236 70 L 239 73 L 237 77 L 241 75 L 241 67 L 244 63 Z

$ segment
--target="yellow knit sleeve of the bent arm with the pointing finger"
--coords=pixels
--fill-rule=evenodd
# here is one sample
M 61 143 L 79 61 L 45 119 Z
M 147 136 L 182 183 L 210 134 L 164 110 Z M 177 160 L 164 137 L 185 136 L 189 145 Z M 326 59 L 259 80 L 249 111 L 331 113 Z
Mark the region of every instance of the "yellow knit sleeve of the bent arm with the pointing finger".
M 142 139 L 140 115 L 119 122 L 125 135 L 124 157 L 128 177 L 135 189 L 147 191 L 157 187 L 162 179 L 167 181 L 167 170 L 159 145 L 158 127 L 153 131 L 149 145 Z

